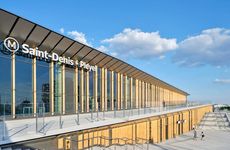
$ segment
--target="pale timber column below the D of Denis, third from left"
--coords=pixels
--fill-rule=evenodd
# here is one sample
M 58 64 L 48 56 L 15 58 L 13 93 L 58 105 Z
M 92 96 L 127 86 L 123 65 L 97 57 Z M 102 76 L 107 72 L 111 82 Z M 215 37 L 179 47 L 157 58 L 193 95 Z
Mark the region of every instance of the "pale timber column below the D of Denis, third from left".
M 50 82 L 50 112 L 54 115 L 54 62 L 51 61 L 49 65 L 49 82 Z

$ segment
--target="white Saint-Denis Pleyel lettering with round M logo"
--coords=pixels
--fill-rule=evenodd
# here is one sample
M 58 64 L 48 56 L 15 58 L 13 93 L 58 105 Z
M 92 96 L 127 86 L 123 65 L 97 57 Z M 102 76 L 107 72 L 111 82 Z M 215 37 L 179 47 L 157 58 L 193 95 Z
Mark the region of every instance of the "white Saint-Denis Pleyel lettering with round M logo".
M 15 38 L 12 38 L 12 37 L 6 38 L 3 44 L 4 44 L 4 47 L 12 53 L 15 53 L 19 49 L 21 49 L 21 52 L 23 54 L 29 54 L 31 56 L 35 56 L 40 59 L 52 60 L 54 62 L 59 62 L 61 64 L 77 66 L 77 67 L 80 67 L 80 68 L 83 68 L 89 71 L 96 71 L 95 66 L 91 66 L 90 64 L 84 61 L 78 61 L 78 60 L 73 60 L 70 57 L 59 56 L 55 52 L 49 53 L 47 51 L 41 51 L 38 49 L 38 47 L 31 47 L 30 45 L 26 43 L 23 43 L 20 46 L 19 42 Z

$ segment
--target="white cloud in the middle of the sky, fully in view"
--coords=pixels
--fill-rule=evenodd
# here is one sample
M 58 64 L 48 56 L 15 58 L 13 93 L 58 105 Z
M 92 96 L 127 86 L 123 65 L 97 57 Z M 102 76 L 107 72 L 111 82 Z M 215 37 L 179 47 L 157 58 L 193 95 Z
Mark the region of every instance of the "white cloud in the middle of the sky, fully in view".
M 159 32 L 143 32 L 130 28 L 103 40 L 102 43 L 116 56 L 140 59 L 161 57 L 165 52 L 177 48 L 176 39 L 162 38 Z

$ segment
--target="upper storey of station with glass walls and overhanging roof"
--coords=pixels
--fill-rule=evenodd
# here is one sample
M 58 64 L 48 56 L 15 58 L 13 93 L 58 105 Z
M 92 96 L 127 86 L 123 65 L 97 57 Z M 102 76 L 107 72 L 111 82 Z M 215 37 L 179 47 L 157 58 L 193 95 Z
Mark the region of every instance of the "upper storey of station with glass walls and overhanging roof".
M 0 115 L 12 118 L 185 103 L 188 93 L 0 10 Z

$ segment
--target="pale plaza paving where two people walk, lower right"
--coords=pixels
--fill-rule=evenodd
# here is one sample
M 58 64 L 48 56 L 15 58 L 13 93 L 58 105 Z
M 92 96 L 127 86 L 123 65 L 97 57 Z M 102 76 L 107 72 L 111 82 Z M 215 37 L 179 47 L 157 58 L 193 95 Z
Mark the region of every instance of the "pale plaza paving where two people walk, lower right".
M 170 139 L 166 142 L 150 145 L 150 149 L 156 150 L 229 150 L 230 149 L 230 132 L 223 130 L 204 130 L 205 138 L 200 140 L 200 133 L 203 130 L 198 130 L 199 138 L 193 139 L 193 132 L 181 135 L 175 139 Z

